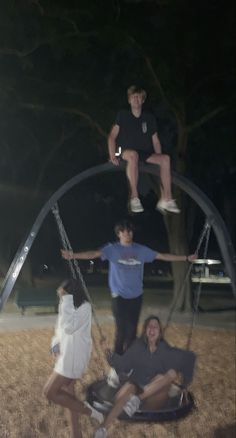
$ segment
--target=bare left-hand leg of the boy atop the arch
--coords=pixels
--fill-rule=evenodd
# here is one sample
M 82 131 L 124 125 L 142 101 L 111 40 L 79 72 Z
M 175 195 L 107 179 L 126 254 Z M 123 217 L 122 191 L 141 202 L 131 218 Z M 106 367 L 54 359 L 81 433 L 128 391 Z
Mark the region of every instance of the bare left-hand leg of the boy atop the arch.
M 127 149 L 122 153 L 123 160 L 127 161 L 126 176 L 130 187 L 130 197 L 138 198 L 138 153 Z

